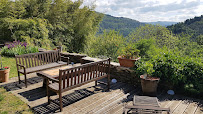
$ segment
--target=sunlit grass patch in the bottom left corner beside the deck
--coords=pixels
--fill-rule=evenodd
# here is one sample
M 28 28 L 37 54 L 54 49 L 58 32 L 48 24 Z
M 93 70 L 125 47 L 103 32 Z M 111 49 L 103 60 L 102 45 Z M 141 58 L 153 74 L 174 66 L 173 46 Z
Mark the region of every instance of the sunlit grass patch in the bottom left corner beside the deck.
M 26 103 L 0 88 L 0 114 L 33 114 Z

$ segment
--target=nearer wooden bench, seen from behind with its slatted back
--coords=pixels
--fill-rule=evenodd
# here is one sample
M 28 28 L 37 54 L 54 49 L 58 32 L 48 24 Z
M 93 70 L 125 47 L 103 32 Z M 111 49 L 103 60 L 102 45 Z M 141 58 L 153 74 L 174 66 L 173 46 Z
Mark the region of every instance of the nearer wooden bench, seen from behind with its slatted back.
M 65 91 L 82 86 L 92 81 L 95 81 L 95 85 L 97 85 L 97 81 L 105 77 L 107 77 L 108 79 L 107 87 L 109 90 L 110 59 L 86 63 L 82 64 L 81 66 L 76 66 L 68 69 L 59 69 L 58 79 L 52 78 L 52 76 L 48 74 L 43 74 L 42 72 L 38 72 L 37 74 L 47 77 L 48 103 L 50 103 L 51 100 L 49 91 L 51 90 L 53 92 L 58 93 L 60 101 L 59 102 L 60 111 L 62 111 L 63 108 L 62 93 Z M 54 83 L 50 83 L 50 81 L 53 81 Z M 54 100 L 52 101 L 55 102 Z

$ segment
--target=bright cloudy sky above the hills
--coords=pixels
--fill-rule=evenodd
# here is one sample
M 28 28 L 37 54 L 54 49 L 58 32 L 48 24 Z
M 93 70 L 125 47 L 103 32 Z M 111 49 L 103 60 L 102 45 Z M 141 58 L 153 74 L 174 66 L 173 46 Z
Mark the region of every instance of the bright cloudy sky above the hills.
M 182 22 L 203 15 L 203 0 L 84 0 L 96 11 L 140 22 Z

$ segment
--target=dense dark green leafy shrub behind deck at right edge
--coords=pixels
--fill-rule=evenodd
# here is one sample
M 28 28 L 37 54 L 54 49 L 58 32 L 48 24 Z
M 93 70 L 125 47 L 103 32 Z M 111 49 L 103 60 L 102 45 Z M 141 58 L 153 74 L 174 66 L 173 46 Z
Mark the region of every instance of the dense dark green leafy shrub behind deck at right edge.
M 145 73 L 145 63 L 153 64 L 153 77 L 160 77 L 160 85 L 187 95 L 203 94 L 203 62 L 200 58 L 181 57 L 179 53 L 162 51 L 149 61 L 135 63 L 137 76 Z

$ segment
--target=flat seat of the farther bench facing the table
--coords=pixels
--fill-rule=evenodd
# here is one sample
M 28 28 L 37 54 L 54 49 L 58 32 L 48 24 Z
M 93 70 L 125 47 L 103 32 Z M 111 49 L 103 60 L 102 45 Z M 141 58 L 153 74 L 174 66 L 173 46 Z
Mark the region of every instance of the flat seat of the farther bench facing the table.
M 42 71 L 42 70 L 46 70 L 49 68 L 60 67 L 60 66 L 64 66 L 64 65 L 67 65 L 67 62 L 59 61 L 59 62 L 49 63 L 49 64 L 45 64 L 45 65 L 41 65 L 41 66 L 26 68 L 26 73 L 29 74 L 29 73 L 33 73 L 36 71 Z M 20 69 L 19 72 L 23 74 L 24 69 Z

